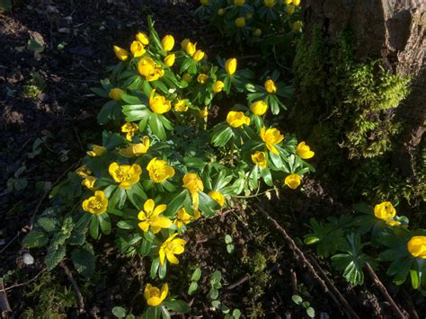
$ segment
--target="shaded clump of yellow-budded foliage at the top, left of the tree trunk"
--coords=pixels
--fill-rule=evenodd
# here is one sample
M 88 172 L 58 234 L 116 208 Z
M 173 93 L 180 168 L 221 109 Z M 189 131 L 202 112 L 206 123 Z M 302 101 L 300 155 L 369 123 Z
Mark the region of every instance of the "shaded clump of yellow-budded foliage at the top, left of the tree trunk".
M 230 44 L 261 49 L 265 60 L 271 55 L 284 60 L 294 56 L 289 44 L 302 31 L 300 0 L 200 0 L 200 3 L 195 13 L 217 28 Z

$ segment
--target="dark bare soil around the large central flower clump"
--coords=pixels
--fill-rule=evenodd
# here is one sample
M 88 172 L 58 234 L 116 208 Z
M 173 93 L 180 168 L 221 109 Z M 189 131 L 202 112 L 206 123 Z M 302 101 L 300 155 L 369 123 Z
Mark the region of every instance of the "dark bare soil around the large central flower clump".
M 220 36 L 195 20 L 192 13 L 197 6 L 196 1 L 17 1 L 12 12 L 0 13 L 0 283 L 4 285 L 0 306 L 6 310 L 7 300 L 12 310 L 4 312 L 4 317 L 112 317 L 114 306 L 142 313 L 149 269 L 140 258 L 117 255 L 107 238 L 96 246 L 94 278 L 87 280 L 73 272 L 84 297 L 85 312 L 80 315 L 64 270 L 43 272 L 42 250 L 31 251 L 35 262 L 26 265 L 22 256 L 28 252 L 21 240 L 31 219 L 49 204 L 51 185 L 75 169 L 87 144 L 99 142 L 101 130 L 95 118 L 102 101 L 89 88 L 106 77 L 105 66 L 115 62 L 111 46 L 127 47 L 137 31 L 145 30 L 147 14 L 160 35 L 167 32 L 179 40 L 196 40 L 209 57 L 235 53 L 225 45 L 211 45 L 222 43 Z M 27 47 L 30 39 L 44 44 L 42 52 Z M 32 90 L 34 85 L 39 90 Z M 40 146 L 35 145 L 40 138 Z M 15 176 L 22 166 L 25 169 Z M 11 178 L 24 179 L 28 186 L 11 190 L 7 186 Z M 253 199 L 249 207 L 235 203 L 233 209 L 190 226 L 188 249 L 180 257 L 181 264 L 170 271 L 173 293 L 191 304 L 192 317 L 223 317 L 210 306 L 208 297 L 209 277 L 220 270 L 224 280 L 219 299 L 245 317 L 307 317 L 292 301 L 294 294 L 309 301 L 317 317 L 343 317 L 279 231 L 254 206 L 260 202 L 301 246 L 307 232 L 302 221 L 339 215 L 346 207 L 333 200 L 333 192 L 333 187 L 311 180 L 304 193 L 281 191 L 280 200 L 271 194 L 272 200 Z M 233 253 L 226 252 L 226 234 L 233 238 Z M 314 256 L 309 248 L 304 251 Z M 72 270 L 71 262 L 65 263 Z M 202 270 L 200 288 L 191 297 L 187 290 L 197 266 Z M 376 287 L 352 288 L 340 274 L 331 276 L 360 317 L 393 316 Z M 382 280 L 391 293 L 396 292 L 391 282 Z M 422 302 L 410 297 L 397 301 L 404 308 L 409 302 L 420 308 Z M 377 315 L 379 308 L 381 315 Z

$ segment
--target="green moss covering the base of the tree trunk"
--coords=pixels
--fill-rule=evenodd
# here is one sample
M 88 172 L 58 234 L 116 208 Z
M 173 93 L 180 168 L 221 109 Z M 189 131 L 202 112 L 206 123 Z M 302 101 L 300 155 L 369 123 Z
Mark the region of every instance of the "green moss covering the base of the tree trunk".
M 424 200 L 424 173 L 413 183 L 391 167 L 395 140 L 404 128 L 395 120 L 395 109 L 409 93 L 410 79 L 391 74 L 381 61 L 357 61 L 353 40 L 351 31 L 343 31 L 335 44 L 327 44 L 315 28 L 309 39 L 305 35 L 299 41 L 297 94 L 288 123 L 315 145 L 332 179 L 337 178 L 334 168 L 343 168 L 339 179 L 351 200 Z

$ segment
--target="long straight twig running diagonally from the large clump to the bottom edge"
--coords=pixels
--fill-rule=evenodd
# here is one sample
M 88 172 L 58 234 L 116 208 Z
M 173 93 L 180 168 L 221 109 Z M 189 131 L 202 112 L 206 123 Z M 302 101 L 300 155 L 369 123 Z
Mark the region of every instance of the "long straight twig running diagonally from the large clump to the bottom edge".
M 329 288 L 327 286 L 327 284 L 325 283 L 324 279 L 322 279 L 318 275 L 318 273 L 315 271 L 315 268 L 312 265 L 312 263 L 306 259 L 305 253 L 303 253 L 300 250 L 300 248 L 298 248 L 297 244 L 288 235 L 287 231 L 282 226 L 280 226 L 280 224 L 274 218 L 272 218 L 265 209 L 263 209 L 258 204 L 256 204 L 255 207 L 262 212 L 262 214 L 266 217 L 266 219 L 269 220 L 281 232 L 282 235 L 284 235 L 284 238 L 288 241 L 288 244 L 289 244 L 290 248 L 293 250 L 294 253 L 297 254 L 297 256 L 301 259 L 301 261 L 304 264 L 304 266 L 306 266 L 306 269 L 309 270 L 309 272 L 311 273 L 311 275 L 316 279 L 316 281 L 324 289 L 324 292 L 326 294 L 328 294 L 333 299 L 334 303 L 339 307 L 339 309 L 341 309 L 341 311 L 345 315 L 347 315 L 348 317 L 350 317 L 350 318 L 357 318 L 358 319 L 359 316 L 352 309 L 352 307 L 348 303 L 348 301 L 342 296 L 342 294 L 340 293 L 340 291 L 337 288 L 335 288 L 334 285 L 331 286 L 331 288 Z M 323 273 L 324 273 L 324 271 L 323 271 Z M 326 278 L 327 278 L 326 281 L 329 284 L 331 282 L 331 280 L 328 279 L 328 277 L 326 277 Z M 337 297 L 336 297 L 336 295 L 337 295 Z

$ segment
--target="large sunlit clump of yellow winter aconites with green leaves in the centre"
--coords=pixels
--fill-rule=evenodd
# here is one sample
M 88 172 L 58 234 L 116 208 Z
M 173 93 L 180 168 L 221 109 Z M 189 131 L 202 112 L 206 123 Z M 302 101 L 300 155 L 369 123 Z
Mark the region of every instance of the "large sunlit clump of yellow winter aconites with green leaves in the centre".
M 70 256 L 86 276 L 101 236 L 120 253 L 146 257 L 151 279 L 162 280 L 162 288 L 146 284 L 146 314 L 155 318 L 167 317 L 167 308 L 187 310 L 167 297 L 173 287 L 165 282 L 191 245 L 187 227 L 232 205 L 236 195 L 257 194 L 260 181 L 297 189 L 313 170 L 305 160 L 314 152 L 269 120 L 291 98 L 277 73 L 256 84 L 236 58 L 217 66 L 191 40 L 160 39 L 150 19 L 148 30 L 129 50 L 114 46 L 120 62 L 93 88 L 106 99 L 98 122 L 111 130 L 52 191 L 51 208 L 24 244 L 49 244 L 49 270 Z

